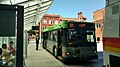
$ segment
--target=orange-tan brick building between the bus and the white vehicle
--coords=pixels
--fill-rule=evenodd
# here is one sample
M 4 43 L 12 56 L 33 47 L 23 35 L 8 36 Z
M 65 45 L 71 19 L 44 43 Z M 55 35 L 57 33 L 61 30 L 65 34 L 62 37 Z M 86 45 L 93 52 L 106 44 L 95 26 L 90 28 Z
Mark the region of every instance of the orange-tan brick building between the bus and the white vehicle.
M 104 14 L 104 8 L 93 12 L 93 22 L 96 24 L 96 39 L 100 38 L 100 41 L 102 41 Z

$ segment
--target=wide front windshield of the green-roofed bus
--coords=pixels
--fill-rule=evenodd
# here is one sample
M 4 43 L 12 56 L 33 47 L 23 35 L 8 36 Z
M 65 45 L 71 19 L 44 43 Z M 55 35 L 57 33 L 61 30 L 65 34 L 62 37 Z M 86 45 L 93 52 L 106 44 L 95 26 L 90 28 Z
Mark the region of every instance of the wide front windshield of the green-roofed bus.
M 72 44 L 94 42 L 94 30 L 68 29 L 67 42 Z

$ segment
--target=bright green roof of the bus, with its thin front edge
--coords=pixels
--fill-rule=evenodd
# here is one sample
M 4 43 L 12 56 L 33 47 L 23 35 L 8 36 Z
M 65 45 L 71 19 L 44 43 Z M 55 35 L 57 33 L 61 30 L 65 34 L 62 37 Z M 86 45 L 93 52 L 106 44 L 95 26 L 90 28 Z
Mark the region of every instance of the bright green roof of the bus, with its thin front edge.
M 74 22 L 74 21 L 62 21 L 59 24 L 56 24 L 54 26 L 50 26 L 48 28 L 45 28 L 44 30 L 42 30 L 42 32 L 47 32 L 47 31 L 52 31 L 52 30 L 56 30 L 56 29 L 61 29 L 61 28 L 67 28 L 68 27 L 68 23 L 80 23 L 80 22 Z M 92 22 L 81 22 L 84 24 L 92 24 Z M 94 24 L 94 23 L 93 23 Z

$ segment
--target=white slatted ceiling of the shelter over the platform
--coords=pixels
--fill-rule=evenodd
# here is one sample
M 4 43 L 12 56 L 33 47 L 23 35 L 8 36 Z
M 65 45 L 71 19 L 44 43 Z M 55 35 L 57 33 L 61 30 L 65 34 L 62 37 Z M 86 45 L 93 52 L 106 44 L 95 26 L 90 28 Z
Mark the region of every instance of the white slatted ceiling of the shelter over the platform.
M 54 0 L 0 0 L 0 4 L 24 6 L 24 30 L 40 22 Z

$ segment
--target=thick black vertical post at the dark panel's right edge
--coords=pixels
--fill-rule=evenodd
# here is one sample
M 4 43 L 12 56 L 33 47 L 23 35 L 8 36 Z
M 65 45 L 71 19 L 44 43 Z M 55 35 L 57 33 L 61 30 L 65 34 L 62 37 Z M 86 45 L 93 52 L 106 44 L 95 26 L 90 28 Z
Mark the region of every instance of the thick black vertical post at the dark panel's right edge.
M 24 7 L 17 6 L 17 52 L 16 67 L 23 67 L 23 28 L 24 28 Z

